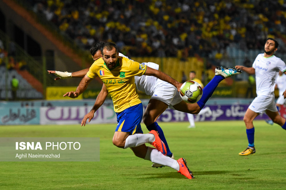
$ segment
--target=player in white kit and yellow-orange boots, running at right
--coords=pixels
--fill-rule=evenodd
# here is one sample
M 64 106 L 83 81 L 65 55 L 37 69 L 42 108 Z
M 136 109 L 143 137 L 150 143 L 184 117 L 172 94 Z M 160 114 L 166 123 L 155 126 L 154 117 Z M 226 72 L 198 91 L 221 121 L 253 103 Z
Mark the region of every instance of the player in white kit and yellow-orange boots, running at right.
M 279 124 L 286 130 L 285 119 L 279 115 L 274 100 L 274 88 L 278 72 L 279 70 L 283 73 L 286 72 L 285 62 L 273 55 L 274 52 L 277 51 L 277 48 L 278 42 L 273 38 L 268 38 L 264 46 L 264 54 L 257 55 L 252 67 L 235 66 L 235 68 L 249 74 L 255 74 L 257 94 L 257 97 L 249 105 L 243 118 L 249 144 L 239 155 L 247 156 L 255 153 L 253 120 L 260 113 L 265 111 L 273 122 Z M 285 97 L 286 91 L 283 92 L 283 94 Z

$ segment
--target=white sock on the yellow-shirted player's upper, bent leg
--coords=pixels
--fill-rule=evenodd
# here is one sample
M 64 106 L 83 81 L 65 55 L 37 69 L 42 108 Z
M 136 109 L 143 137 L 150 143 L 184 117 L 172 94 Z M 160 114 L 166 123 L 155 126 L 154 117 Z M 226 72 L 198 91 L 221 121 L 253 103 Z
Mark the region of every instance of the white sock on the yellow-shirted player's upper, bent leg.
M 132 134 L 125 140 L 124 148 L 136 147 L 145 143 L 152 143 L 155 140 L 154 134 Z

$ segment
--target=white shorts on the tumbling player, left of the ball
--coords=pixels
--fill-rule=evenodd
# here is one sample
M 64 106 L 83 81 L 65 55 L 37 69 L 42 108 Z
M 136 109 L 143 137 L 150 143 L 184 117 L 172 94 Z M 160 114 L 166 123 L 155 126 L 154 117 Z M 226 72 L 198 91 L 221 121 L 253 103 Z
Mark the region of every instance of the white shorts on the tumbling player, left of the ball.
M 166 81 L 157 79 L 151 99 L 159 100 L 167 105 L 173 101 L 177 88 Z

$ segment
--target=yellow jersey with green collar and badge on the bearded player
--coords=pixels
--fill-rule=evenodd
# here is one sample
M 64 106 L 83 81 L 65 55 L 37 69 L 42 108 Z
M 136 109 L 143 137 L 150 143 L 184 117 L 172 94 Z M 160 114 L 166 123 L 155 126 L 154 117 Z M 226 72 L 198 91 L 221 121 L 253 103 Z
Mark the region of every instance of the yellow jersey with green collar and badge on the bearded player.
M 100 77 L 112 98 L 114 111 L 118 113 L 141 103 L 136 92 L 134 76 L 142 76 L 146 69 L 143 64 L 119 56 L 115 68 L 109 70 L 100 58 L 92 64 L 87 76 Z

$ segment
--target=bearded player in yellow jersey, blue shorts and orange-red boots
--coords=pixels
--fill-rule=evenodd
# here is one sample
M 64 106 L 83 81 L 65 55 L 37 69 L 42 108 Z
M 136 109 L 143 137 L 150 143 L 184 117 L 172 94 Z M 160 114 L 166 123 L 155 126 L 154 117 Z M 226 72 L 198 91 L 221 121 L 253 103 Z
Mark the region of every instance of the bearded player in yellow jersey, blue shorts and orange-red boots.
M 117 47 L 113 43 L 108 42 L 101 48 L 101 57 L 102 59 L 98 59 L 92 64 L 76 91 L 67 92 L 63 96 L 78 97 L 86 89 L 91 79 L 99 76 L 112 97 L 114 111 L 117 115 L 118 124 L 112 139 L 113 144 L 119 148 L 131 148 L 139 158 L 172 167 L 188 179 L 192 179 L 192 172 L 188 169 L 184 158 L 174 160 L 164 156 L 166 155 L 166 146 L 155 130 L 143 134 L 140 125 L 143 106 L 136 93 L 134 76 L 152 75 L 171 83 L 177 89 L 180 89 L 182 84 L 161 71 L 128 58 L 119 57 Z M 157 150 L 147 147 L 145 143 L 152 144 Z

